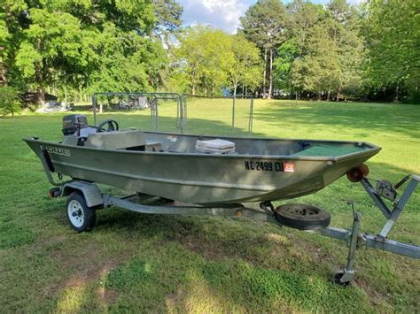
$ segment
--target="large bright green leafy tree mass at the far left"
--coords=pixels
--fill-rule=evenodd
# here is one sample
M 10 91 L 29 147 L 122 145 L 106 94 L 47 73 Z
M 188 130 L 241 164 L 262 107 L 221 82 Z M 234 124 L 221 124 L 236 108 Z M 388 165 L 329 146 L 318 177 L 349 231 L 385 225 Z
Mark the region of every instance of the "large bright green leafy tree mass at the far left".
M 14 50 L 6 60 L 12 60 L 12 66 L 2 69 L 19 69 L 16 76 L 38 90 L 40 101 L 45 87 L 57 81 L 65 90 L 67 86 L 144 90 L 160 84 L 166 52 L 152 31 L 176 27 L 176 14 L 162 11 L 165 5 L 175 8 L 175 1 L 157 1 L 159 8 L 148 0 L 4 2 L 0 29 L 5 20 Z M 8 40 L 5 34 L 0 35 L 0 50 Z

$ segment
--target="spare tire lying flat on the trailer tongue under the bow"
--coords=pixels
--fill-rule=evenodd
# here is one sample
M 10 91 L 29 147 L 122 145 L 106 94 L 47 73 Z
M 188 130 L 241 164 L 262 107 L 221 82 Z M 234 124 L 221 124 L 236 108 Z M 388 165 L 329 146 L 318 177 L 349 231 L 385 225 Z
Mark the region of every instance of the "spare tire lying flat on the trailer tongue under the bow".
M 278 206 L 274 216 L 280 224 L 299 230 L 323 229 L 330 226 L 331 221 L 329 212 L 304 203 Z

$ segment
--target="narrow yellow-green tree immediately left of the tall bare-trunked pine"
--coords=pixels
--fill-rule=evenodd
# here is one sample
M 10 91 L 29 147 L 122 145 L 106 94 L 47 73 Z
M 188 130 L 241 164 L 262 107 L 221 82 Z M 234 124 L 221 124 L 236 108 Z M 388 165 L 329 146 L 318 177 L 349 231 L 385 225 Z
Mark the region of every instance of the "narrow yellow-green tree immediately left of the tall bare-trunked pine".
M 260 50 L 241 35 L 232 36 L 231 50 L 234 59 L 230 65 L 229 82 L 233 96 L 237 96 L 239 83 L 249 88 L 256 88 L 261 83 Z

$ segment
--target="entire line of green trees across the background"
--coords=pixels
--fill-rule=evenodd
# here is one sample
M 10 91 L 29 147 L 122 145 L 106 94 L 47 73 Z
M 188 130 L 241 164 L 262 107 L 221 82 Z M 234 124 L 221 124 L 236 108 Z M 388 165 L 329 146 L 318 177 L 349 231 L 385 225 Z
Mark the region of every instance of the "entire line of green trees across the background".
M 40 101 L 46 91 L 87 102 L 105 90 L 242 88 L 418 103 L 417 3 L 259 0 L 236 37 L 182 27 L 176 0 L 2 0 L 0 84 L 38 91 Z

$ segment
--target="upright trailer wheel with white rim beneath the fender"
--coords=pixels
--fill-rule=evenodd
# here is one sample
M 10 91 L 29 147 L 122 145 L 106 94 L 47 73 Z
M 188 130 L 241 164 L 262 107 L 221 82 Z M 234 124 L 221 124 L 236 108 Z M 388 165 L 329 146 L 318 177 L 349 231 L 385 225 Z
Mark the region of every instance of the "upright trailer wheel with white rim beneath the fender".
M 88 207 L 81 192 L 75 191 L 68 197 L 66 210 L 70 226 L 78 233 L 92 230 L 95 226 L 96 211 L 94 208 Z

